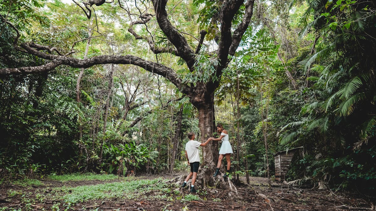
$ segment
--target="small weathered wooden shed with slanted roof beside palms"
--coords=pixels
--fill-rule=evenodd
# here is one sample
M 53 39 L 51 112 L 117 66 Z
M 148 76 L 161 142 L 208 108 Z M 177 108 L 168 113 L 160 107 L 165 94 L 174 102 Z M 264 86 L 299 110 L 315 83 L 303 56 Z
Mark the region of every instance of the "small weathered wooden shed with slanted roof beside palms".
M 277 181 L 285 180 L 285 175 L 288 171 L 288 168 L 290 167 L 291 160 L 293 160 L 294 154 L 296 152 L 299 152 L 299 154 L 303 157 L 303 146 L 285 151 L 280 151 L 274 154 L 275 176 Z

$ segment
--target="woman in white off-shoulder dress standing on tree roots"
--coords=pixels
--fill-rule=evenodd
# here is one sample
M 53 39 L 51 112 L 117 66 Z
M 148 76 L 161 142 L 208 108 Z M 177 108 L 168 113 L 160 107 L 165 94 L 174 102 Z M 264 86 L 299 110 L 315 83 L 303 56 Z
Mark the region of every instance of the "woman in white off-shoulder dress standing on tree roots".
M 222 145 L 221 145 L 221 149 L 219 150 L 217 169 L 215 169 L 215 173 L 213 177 L 217 176 L 220 173 L 219 168 L 221 167 L 223 157 L 226 155 L 227 173 L 223 175 L 223 178 L 226 178 L 227 174 L 230 172 L 230 167 L 231 167 L 231 161 L 230 161 L 231 155 L 230 154 L 232 154 L 233 152 L 232 152 L 231 144 L 229 142 L 229 134 L 227 133 L 227 130 L 224 130 L 223 126 L 221 124 L 218 124 L 217 131 L 218 133 L 221 133 L 221 136 L 217 139 L 212 138 L 212 140 L 215 140 L 215 141 L 222 140 Z

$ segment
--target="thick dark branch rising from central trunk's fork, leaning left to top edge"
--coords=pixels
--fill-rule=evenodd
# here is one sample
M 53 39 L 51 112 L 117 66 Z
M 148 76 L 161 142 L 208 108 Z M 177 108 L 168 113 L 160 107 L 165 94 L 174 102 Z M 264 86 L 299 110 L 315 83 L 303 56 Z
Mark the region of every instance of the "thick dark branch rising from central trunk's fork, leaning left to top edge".
M 194 70 L 194 51 L 188 42 L 168 20 L 166 12 L 167 0 L 152 0 L 159 27 L 167 36 L 168 40 L 176 47 L 180 57 L 185 60 L 190 71 Z

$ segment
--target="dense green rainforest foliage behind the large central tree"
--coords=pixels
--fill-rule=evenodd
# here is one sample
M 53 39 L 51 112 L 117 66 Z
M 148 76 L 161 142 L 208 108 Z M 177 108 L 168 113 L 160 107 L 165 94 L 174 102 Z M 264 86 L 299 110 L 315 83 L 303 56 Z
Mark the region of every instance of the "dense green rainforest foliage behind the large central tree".
M 4 0 L 0 68 L 45 64 L 16 44 L 33 42 L 50 51 L 74 50 L 79 59 L 142 56 L 179 70 L 191 86 L 217 80 L 208 75 L 218 61 L 205 52 L 216 50 L 221 6 L 167 3 L 171 22 L 192 48 L 200 38 L 197 26 L 208 32 L 196 61 L 204 71 L 190 72 L 182 60 L 150 54 L 147 42 L 128 30 L 132 14 L 149 9 L 149 1 L 105 3 L 88 19 L 73 2 Z M 273 154 L 303 146 L 304 157 L 294 157 L 287 181 L 374 191 L 375 12 L 375 3 L 366 0 L 255 1 L 250 26 L 215 90 L 215 122 L 229 131 L 233 176 L 265 176 L 265 156 L 273 176 Z M 238 15 L 243 13 L 241 6 Z M 151 20 L 134 30 L 170 48 Z M 186 171 L 190 131 L 200 133 L 190 99 L 164 77 L 136 66 L 58 66 L 0 78 L 2 177 Z

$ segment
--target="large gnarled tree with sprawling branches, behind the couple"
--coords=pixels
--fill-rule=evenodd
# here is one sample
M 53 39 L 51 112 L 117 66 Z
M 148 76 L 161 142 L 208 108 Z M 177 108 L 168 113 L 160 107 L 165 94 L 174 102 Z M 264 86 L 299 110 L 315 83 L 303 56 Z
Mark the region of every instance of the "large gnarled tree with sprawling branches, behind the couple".
M 95 7 L 101 7 L 108 3 L 105 0 L 89 0 L 88 2 L 76 2 L 73 0 L 73 2 L 82 9 L 87 18 L 94 18 L 92 14 L 94 14 Z M 17 45 L 18 50 L 35 55 L 49 62 L 41 66 L 0 69 L 0 74 L 10 75 L 48 72 L 59 65 L 68 65 L 73 68 L 88 68 L 93 65 L 101 64 L 136 65 L 144 68 L 146 71 L 165 77 L 173 83 L 180 92 L 188 96 L 191 103 L 199 112 L 200 140 L 204 141 L 212 136 L 212 133 L 215 131 L 214 91 L 219 86 L 221 75 L 224 69 L 227 68 L 231 57 L 235 54 L 240 44 L 244 32 L 246 32 L 249 26 L 253 14 L 254 0 L 196 0 L 193 2 L 201 9 L 199 17 L 204 23 L 200 24 L 201 29 L 199 29 L 199 24 L 197 24 L 197 32 L 200 32 L 199 38 L 197 38 L 196 43 L 194 43 L 195 46 L 187 42 L 187 37 L 192 36 L 190 33 L 179 31 L 177 27 L 171 23 L 169 17 L 171 11 L 167 11 L 166 8 L 167 6 L 173 5 L 167 5 L 167 0 L 151 0 L 151 2 L 142 0 L 121 2 L 118 0 L 116 3 L 109 3 L 114 4 L 112 6 L 117 4 L 127 11 L 129 17 L 134 14 L 131 14 L 132 12 L 127 9 L 128 5 L 150 5 L 152 9 L 144 10 L 144 12 L 138 10 L 138 20 L 130 20 L 129 28 L 127 29 L 128 32 L 124 33 L 131 33 L 135 39 L 145 40 L 145 43 L 147 43 L 150 48 L 150 52 L 155 55 L 170 54 L 173 57 L 177 57 L 180 61 L 183 61 L 182 65 L 189 71 L 186 77 L 182 77 L 182 75 L 170 66 L 129 54 L 101 55 L 77 59 L 74 57 L 73 48 L 70 52 L 61 53 L 61 51 L 54 46 L 46 46 L 34 42 L 17 44 L 20 33 L 16 27 L 13 27 L 14 30 L 17 31 L 14 43 Z M 168 39 L 168 45 L 162 46 L 161 43 L 156 43 L 153 36 L 140 35 L 139 32 L 136 32 L 136 24 L 145 25 L 147 27 L 151 22 L 150 20 L 156 20 L 159 29 L 150 27 L 147 29 L 148 32 L 150 32 L 150 30 L 161 30 L 165 38 Z M 6 22 L 9 25 L 12 24 L 9 21 Z M 150 35 L 152 35 L 152 33 L 150 33 Z M 215 48 L 206 48 L 207 50 L 203 51 L 202 46 L 213 39 L 216 43 L 213 45 Z M 208 49 L 210 49 L 211 52 L 209 52 L 210 50 Z M 209 65 L 206 65 L 206 68 L 201 64 L 202 60 L 205 59 L 209 61 Z M 209 66 L 209 68 L 207 66 Z M 218 143 L 211 142 L 203 148 L 202 173 L 199 178 L 204 178 L 205 183 L 214 183 L 214 179 L 211 175 L 212 172 L 214 172 L 217 159 Z M 229 181 L 222 183 L 232 186 Z

